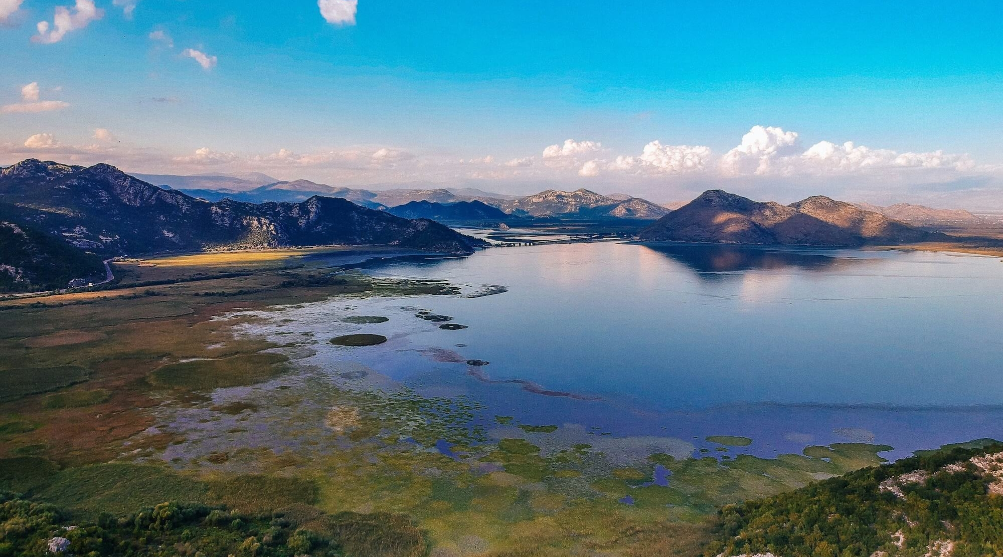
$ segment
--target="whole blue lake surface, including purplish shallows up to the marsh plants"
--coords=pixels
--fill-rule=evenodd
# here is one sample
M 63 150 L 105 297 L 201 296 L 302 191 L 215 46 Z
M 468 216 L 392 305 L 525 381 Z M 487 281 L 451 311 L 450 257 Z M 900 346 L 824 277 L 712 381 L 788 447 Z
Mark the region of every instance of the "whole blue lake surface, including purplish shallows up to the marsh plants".
M 471 395 L 487 416 L 583 435 L 746 435 L 757 454 L 863 441 L 903 456 L 1003 438 L 998 257 L 597 242 L 365 271 L 445 280 L 471 296 L 338 298 L 274 323 L 319 339 L 384 335 L 378 347 L 319 344 L 309 362 Z M 468 328 L 441 330 L 419 311 Z M 389 321 L 340 321 L 350 315 Z

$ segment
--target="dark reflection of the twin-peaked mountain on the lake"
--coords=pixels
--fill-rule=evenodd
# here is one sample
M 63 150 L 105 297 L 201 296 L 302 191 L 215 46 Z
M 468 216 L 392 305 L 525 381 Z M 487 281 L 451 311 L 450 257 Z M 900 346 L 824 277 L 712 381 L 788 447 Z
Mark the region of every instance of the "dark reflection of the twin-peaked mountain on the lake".
M 643 247 L 682 263 L 705 278 L 742 270 L 797 268 L 822 271 L 854 260 L 840 256 L 835 250 L 828 254 L 758 245 L 665 243 Z

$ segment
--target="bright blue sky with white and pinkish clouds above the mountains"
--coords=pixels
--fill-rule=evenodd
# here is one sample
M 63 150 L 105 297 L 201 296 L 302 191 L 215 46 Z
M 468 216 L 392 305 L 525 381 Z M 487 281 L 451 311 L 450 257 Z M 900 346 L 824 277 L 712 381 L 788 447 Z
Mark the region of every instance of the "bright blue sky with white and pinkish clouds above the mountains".
M 0 164 L 1003 209 L 1003 4 L 0 0 Z

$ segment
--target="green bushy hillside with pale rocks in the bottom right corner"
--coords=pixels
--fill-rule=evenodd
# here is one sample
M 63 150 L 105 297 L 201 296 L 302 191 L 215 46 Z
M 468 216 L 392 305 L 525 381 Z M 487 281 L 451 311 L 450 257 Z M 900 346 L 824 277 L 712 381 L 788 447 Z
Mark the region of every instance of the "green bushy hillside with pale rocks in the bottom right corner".
M 1003 555 L 1003 445 L 984 443 L 724 507 L 705 556 Z

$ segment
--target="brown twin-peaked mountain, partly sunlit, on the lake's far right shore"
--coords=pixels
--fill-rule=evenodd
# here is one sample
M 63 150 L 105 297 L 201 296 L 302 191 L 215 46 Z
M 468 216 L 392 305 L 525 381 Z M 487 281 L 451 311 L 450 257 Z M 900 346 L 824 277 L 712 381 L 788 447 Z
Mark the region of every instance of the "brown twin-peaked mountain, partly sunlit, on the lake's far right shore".
M 789 205 L 705 191 L 638 233 L 651 241 L 706 241 L 827 246 L 944 240 L 888 216 L 822 195 Z

